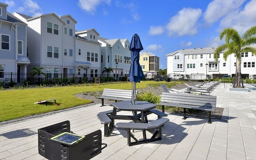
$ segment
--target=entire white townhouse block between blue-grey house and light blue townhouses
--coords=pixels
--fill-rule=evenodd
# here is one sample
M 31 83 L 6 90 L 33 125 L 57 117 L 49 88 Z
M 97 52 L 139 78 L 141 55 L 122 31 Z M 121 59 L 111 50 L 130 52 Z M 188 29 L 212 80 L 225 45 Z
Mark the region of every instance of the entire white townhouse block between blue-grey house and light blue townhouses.
M 32 67 L 43 67 L 42 72 L 54 74 L 78 74 L 77 78 L 91 78 L 100 72 L 99 33 L 95 29 L 77 31 L 77 21 L 71 15 L 55 13 L 36 17 L 14 12 L 14 16 L 28 24 L 28 57 Z

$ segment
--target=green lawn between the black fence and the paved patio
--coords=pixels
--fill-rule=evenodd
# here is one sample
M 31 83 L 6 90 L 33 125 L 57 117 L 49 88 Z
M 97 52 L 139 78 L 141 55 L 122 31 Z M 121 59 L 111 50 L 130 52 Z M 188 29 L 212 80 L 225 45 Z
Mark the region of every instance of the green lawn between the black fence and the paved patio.
M 170 83 L 170 82 L 169 82 Z M 143 81 L 136 84 L 136 88 L 145 88 L 148 84 L 160 86 L 168 82 Z M 104 88 L 132 89 L 131 82 L 101 84 L 100 86 L 76 85 L 64 87 L 30 88 L 17 90 L 0 90 L 0 122 L 13 120 L 34 114 L 46 113 L 54 110 L 72 108 L 83 104 L 89 104 L 91 100 L 85 100 L 74 96 L 77 93 L 94 92 Z M 45 104 L 34 104 L 39 100 L 56 98 L 54 101 Z

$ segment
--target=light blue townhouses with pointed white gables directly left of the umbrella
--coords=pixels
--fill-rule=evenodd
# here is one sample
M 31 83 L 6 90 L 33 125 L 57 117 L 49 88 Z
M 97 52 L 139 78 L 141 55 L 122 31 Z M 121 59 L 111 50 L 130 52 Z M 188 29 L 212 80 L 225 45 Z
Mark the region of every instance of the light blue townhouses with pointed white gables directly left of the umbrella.
M 131 66 L 130 42 L 128 39 L 106 39 L 99 37 L 101 45 L 101 70 L 112 68 L 118 77 L 128 76 Z M 117 62 L 117 63 L 116 63 Z M 102 74 L 102 73 L 101 73 Z M 104 73 L 106 74 L 106 73 Z

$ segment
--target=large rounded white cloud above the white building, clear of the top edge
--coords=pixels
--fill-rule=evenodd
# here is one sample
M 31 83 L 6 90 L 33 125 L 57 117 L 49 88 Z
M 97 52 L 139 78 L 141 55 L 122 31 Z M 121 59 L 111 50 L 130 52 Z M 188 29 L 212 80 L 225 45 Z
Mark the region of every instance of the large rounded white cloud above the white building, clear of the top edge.
M 197 22 L 202 15 L 201 9 L 183 8 L 170 19 L 166 29 L 168 35 L 194 35 L 197 33 Z

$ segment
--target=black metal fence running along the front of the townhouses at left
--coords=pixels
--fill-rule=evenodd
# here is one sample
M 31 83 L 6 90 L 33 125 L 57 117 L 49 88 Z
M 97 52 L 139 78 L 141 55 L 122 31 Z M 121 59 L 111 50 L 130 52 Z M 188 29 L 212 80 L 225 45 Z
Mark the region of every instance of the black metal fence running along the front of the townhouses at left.
M 31 85 L 68 85 L 94 83 L 95 78 L 100 82 L 127 81 L 127 75 L 120 74 L 32 74 L 32 73 L 2 73 L 0 74 L 0 88 Z

